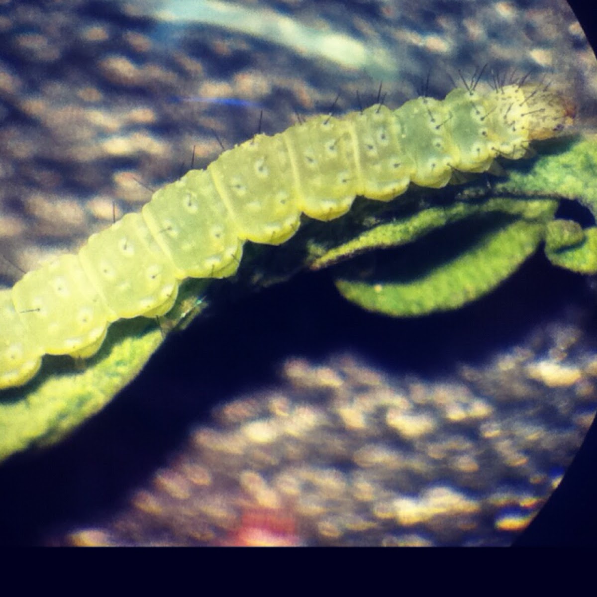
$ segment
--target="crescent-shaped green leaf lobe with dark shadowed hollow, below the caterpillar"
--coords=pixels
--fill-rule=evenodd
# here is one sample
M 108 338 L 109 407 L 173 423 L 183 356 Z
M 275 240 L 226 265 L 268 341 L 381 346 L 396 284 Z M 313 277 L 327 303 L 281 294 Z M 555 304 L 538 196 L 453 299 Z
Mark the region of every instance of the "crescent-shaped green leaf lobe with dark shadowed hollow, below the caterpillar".
M 503 218 L 479 222 L 477 233 L 463 226 L 433 235 L 426 244 L 392 255 L 392 263 L 376 267 L 367 281 L 337 278 L 340 293 L 364 309 L 395 317 L 456 309 L 496 288 L 532 254 L 544 235 L 541 220 Z M 439 242 L 454 243 L 443 250 Z M 472 242 L 471 242 L 472 241 Z

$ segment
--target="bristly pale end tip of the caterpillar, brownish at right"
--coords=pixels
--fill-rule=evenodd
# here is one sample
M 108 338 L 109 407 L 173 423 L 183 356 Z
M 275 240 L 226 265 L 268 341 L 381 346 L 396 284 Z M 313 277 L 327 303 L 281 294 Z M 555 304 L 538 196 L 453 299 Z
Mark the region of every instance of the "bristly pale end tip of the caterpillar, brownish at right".
M 576 118 L 574 101 L 547 89 L 530 87 L 524 91 L 530 140 L 558 137 L 573 125 Z

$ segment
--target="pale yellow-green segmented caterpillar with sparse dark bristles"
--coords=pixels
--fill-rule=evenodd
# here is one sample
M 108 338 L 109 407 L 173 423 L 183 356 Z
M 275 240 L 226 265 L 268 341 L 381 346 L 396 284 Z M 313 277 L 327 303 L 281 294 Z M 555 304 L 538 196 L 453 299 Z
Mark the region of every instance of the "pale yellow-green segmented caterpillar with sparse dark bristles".
M 78 254 L 0 291 L 0 389 L 27 383 L 45 354 L 90 357 L 118 319 L 165 315 L 181 281 L 232 276 L 246 241 L 281 244 L 302 214 L 327 221 L 356 196 L 390 201 L 410 184 L 443 187 L 458 172 L 527 155 L 531 141 L 558 135 L 573 118 L 563 96 L 521 81 L 257 134 L 153 193 Z

